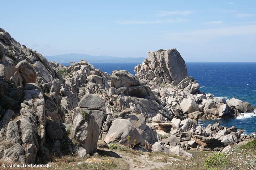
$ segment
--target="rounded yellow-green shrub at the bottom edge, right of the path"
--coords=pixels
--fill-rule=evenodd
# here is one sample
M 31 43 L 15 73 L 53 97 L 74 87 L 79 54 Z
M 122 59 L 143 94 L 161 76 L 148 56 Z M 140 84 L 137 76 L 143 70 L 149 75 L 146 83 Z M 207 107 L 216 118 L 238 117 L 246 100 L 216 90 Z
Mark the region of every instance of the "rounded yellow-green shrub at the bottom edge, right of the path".
M 204 167 L 207 170 L 224 167 L 228 164 L 228 156 L 225 153 L 214 152 L 204 160 Z

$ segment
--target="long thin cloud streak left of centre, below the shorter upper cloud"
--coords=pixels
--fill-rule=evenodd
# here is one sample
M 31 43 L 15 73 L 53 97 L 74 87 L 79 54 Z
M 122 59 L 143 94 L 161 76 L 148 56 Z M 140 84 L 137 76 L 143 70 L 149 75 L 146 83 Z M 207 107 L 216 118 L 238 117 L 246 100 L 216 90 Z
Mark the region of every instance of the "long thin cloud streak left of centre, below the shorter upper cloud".
M 121 25 L 150 25 L 150 24 L 168 24 L 168 23 L 177 23 L 185 21 L 184 19 L 169 19 L 169 20 L 152 20 L 152 21 L 138 21 L 138 20 L 129 20 L 129 21 L 117 21 Z

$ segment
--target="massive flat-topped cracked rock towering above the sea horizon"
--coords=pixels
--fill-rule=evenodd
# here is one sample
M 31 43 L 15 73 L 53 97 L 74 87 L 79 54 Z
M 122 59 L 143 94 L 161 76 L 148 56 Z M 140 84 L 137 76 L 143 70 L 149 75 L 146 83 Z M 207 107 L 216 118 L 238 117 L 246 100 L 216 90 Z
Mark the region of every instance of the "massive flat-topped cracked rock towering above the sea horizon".
M 157 83 L 178 85 L 188 77 L 185 61 L 176 49 L 162 52 L 148 52 L 149 59 L 135 67 L 136 76 Z

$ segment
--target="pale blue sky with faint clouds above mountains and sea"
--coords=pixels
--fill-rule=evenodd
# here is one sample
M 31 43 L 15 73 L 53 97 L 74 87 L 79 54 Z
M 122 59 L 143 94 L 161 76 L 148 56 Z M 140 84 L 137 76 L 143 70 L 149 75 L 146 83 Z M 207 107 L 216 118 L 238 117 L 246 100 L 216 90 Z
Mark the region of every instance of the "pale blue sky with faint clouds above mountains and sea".
M 255 0 L 12 0 L 0 16 L 0 28 L 45 56 L 176 48 L 186 62 L 256 62 Z

